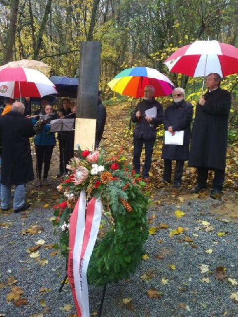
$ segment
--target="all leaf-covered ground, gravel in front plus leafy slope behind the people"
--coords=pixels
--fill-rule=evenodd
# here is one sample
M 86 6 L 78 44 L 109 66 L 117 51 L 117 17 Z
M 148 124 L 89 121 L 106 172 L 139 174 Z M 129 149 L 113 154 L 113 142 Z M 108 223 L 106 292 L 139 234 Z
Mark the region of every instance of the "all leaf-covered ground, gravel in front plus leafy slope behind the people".
M 132 158 L 129 109 L 107 107 L 104 143 L 107 151 L 120 148 Z M 237 289 L 237 161 L 236 144 L 228 149 L 224 194 L 189 194 L 195 170 L 185 168 L 179 190 L 161 183 L 162 140 L 158 139 L 145 192 L 152 199 L 148 211 L 149 238 L 143 262 L 129 280 L 108 285 L 102 316 L 235 317 Z M 34 148 L 32 149 L 35 159 Z M 52 206 L 59 198 L 58 148 L 50 170 L 52 184 L 41 189 L 27 184 L 28 211 L 0 213 L 0 316 L 75 317 L 69 285 L 58 293 L 65 261 L 55 249 Z M 210 175 L 210 179 L 212 175 Z M 104 235 L 102 225 L 100 236 Z M 91 316 L 97 316 L 102 289 L 89 287 Z

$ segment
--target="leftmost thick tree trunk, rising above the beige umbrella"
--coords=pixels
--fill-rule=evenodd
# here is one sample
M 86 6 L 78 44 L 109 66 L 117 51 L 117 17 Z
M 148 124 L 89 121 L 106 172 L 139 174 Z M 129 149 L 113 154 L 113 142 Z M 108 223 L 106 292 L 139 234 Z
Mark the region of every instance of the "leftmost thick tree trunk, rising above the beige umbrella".
M 11 11 L 10 11 L 10 24 L 9 24 L 9 31 L 6 36 L 6 48 L 5 54 L 3 58 L 3 64 L 6 64 L 8 61 L 12 59 L 12 46 L 15 41 L 15 34 L 16 34 L 16 21 L 17 21 L 17 11 L 19 0 L 11 0 Z

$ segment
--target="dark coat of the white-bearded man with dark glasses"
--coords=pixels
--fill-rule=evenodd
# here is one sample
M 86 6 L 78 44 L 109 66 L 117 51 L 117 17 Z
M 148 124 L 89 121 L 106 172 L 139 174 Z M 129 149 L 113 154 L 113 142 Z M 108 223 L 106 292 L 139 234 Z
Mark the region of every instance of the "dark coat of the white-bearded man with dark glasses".
M 174 103 L 165 109 L 163 118 L 165 130 L 172 126 L 174 131 L 184 131 L 184 136 L 183 145 L 163 144 L 162 159 L 188 159 L 192 114 L 193 106 L 184 100 L 179 105 Z

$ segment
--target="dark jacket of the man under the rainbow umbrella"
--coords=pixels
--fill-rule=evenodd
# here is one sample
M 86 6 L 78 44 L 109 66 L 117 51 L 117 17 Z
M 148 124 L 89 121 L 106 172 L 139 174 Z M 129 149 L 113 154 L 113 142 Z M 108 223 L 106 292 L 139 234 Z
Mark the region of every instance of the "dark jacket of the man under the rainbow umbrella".
M 147 122 L 145 119 L 145 111 L 153 107 L 157 108 L 156 118 L 152 118 L 152 122 Z M 136 112 L 140 109 L 141 120 L 139 121 L 136 117 Z M 163 106 L 156 101 L 154 98 L 150 101 L 143 100 L 137 104 L 135 111 L 131 117 L 132 122 L 136 122 L 136 126 L 133 132 L 133 137 L 135 139 L 140 139 L 143 137 L 144 140 L 156 139 L 157 126 L 162 124 L 164 116 Z

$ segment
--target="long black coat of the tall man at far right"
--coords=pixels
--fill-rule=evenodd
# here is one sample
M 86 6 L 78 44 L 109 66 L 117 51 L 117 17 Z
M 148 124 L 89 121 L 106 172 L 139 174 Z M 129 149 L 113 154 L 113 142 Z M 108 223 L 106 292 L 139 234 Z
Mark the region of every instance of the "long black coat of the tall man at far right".
M 225 170 L 231 95 L 219 87 L 204 99 L 196 107 L 188 166 Z

